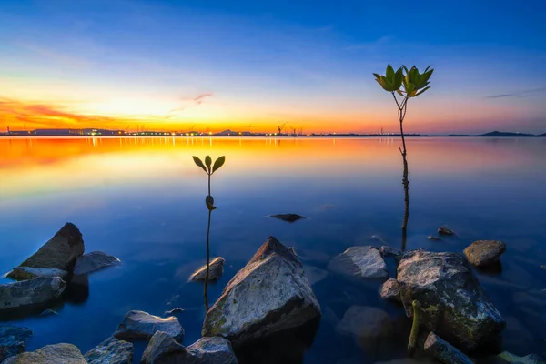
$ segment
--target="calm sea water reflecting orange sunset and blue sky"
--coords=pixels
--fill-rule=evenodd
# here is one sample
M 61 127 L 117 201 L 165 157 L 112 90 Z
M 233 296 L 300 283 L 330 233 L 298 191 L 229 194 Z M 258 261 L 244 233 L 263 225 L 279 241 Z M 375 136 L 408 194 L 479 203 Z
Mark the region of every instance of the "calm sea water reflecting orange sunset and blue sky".
M 123 261 L 91 275 L 83 297 L 56 307 L 60 316 L 10 324 L 34 329 L 30 350 L 70 342 L 86 352 L 130 309 L 163 315 L 185 308 L 179 319 L 189 345 L 200 337 L 205 311 L 202 285 L 187 278 L 205 262 L 207 237 L 207 176 L 192 155 L 227 158 L 212 179 L 211 253 L 226 258 L 223 278 L 210 287 L 214 301 L 270 235 L 298 248 L 313 280 L 349 246 L 380 246 L 380 238 L 401 248 L 398 148 L 399 139 L 389 138 L 0 138 L 0 271 L 67 221 L 82 231 L 87 252 Z M 408 149 L 406 248 L 461 252 L 477 239 L 505 241 L 501 268 L 477 272 L 508 322 L 498 349 L 546 355 L 546 303 L 532 296 L 546 288 L 546 138 L 413 138 Z M 278 213 L 307 218 L 268 217 Z M 429 241 L 440 225 L 457 236 Z M 318 329 L 260 348 L 269 358 L 263 362 L 404 358 L 410 322 L 379 298 L 379 286 L 326 275 L 313 285 L 323 311 Z M 336 325 L 351 306 L 387 311 L 391 337 L 341 336 Z M 135 362 L 143 349 L 136 346 Z

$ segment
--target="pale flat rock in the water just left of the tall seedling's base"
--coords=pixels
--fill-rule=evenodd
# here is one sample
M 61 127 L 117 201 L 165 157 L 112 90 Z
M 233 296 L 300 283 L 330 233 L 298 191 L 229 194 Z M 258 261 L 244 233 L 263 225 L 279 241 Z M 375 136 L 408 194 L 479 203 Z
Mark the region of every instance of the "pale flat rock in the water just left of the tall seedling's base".
M 350 247 L 330 260 L 329 270 L 357 278 L 387 278 L 389 270 L 378 248 Z

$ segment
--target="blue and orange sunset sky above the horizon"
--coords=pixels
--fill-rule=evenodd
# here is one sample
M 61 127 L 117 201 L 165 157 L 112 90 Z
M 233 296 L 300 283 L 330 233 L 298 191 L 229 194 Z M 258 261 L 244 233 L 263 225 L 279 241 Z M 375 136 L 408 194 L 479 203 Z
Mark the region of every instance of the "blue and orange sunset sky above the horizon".
M 0 131 L 546 132 L 546 2 L 2 0 Z

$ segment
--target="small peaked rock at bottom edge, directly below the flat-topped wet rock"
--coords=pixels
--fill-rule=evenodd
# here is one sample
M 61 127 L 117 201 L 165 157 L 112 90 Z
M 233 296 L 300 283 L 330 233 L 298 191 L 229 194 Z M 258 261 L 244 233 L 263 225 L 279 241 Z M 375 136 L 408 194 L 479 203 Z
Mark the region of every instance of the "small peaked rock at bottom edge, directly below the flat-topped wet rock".
M 147 345 L 141 364 L 167 364 L 183 363 L 182 358 L 186 356 L 186 348 L 177 343 L 177 340 L 167 332 L 157 331 Z M 179 355 L 182 354 L 182 355 Z

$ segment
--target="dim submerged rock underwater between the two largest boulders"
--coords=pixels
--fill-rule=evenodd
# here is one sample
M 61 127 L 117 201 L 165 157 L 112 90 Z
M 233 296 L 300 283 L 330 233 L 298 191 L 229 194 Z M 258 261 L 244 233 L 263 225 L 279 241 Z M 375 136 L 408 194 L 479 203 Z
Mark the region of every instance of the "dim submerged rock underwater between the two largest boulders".
M 366 306 L 351 306 L 336 330 L 359 340 L 388 338 L 393 333 L 389 314 L 382 309 Z

